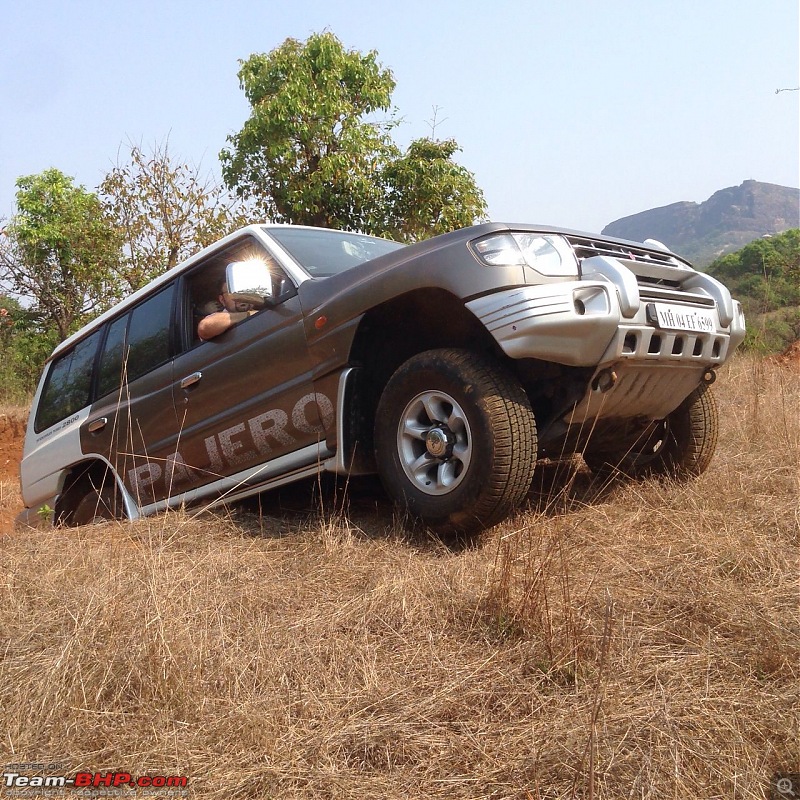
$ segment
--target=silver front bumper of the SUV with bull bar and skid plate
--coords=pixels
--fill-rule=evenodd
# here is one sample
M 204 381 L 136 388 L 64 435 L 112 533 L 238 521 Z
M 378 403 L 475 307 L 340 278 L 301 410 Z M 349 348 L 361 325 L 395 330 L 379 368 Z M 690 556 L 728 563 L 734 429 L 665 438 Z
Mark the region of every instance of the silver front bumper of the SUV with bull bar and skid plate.
M 582 280 L 520 286 L 467 304 L 511 358 L 594 367 L 583 397 L 562 417 L 568 426 L 663 419 L 744 338 L 741 307 L 702 273 L 681 270 L 682 282 L 667 286 L 652 280 L 663 274 L 648 266 L 650 280 L 640 286 L 618 259 L 586 259 L 582 268 Z M 659 303 L 687 318 L 702 311 L 707 329 L 659 327 Z

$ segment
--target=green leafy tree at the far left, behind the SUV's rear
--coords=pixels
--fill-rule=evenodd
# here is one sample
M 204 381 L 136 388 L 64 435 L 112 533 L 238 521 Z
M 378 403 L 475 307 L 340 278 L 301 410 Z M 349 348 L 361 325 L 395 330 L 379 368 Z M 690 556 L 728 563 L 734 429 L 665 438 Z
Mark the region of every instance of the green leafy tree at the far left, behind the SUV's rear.
M 63 340 L 119 297 L 120 239 L 102 204 L 57 169 L 17 180 L 0 241 L 0 280 Z

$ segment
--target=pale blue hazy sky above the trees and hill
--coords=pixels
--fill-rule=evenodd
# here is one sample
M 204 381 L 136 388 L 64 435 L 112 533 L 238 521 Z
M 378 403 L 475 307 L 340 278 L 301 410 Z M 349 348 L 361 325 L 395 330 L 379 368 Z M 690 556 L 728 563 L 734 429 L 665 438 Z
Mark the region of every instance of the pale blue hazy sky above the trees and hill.
M 131 144 L 219 180 L 239 60 L 333 32 L 391 69 L 400 145 L 454 138 L 492 220 L 599 232 L 754 179 L 800 185 L 798 0 L 0 0 L 0 220 Z M 776 93 L 776 90 L 780 91 Z

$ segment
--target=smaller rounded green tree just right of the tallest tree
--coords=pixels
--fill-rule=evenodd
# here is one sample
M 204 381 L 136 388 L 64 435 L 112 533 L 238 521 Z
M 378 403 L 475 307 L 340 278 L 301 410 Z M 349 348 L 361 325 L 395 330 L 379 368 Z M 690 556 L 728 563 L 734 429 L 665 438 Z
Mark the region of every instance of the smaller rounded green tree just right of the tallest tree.
M 387 165 L 386 233 L 415 242 L 467 227 L 486 214 L 473 174 L 452 160 L 459 149 L 454 139 L 417 139 Z

